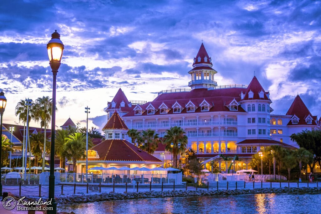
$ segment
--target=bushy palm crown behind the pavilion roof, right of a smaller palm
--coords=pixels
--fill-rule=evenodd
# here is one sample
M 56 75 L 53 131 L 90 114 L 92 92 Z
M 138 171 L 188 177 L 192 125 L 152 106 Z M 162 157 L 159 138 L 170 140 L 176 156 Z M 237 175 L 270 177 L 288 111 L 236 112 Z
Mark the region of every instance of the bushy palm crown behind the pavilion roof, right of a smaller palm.
M 158 147 L 158 143 L 160 142 L 158 134 L 155 134 L 155 131 L 152 129 L 147 129 L 147 131 L 143 131 L 142 135 L 138 138 L 139 147 L 148 152 L 149 154 L 153 154 L 154 151 Z

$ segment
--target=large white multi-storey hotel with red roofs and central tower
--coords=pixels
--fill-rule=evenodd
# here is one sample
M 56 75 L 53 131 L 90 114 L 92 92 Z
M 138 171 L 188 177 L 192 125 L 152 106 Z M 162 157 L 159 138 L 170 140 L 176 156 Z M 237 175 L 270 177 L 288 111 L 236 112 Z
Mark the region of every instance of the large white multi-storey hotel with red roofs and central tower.
M 270 93 L 255 76 L 249 85 L 218 86 L 214 81 L 217 71 L 212 67 L 202 43 L 188 72 L 191 89 L 160 91 L 150 102 L 129 101 L 119 89 L 105 108 L 108 119 L 116 110 L 129 129 L 150 128 L 160 136 L 170 126 L 180 126 L 198 158 L 237 155 L 235 170 L 247 169 L 252 155 L 266 146 L 298 147 L 290 139 L 292 133 L 320 129 L 320 120 L 311 115 L 299 95 L 286 114 L 274 115 Z M 157 150 L 154 155 L 164 160 L 164 151 Z M 222 171 L 230 165 L 221 160 L 219 164 Z

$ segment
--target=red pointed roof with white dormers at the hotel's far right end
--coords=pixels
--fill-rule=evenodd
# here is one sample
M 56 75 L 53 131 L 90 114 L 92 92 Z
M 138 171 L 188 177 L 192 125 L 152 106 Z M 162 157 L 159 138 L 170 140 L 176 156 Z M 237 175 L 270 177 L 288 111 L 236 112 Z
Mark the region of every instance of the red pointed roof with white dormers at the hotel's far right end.
M 290 120 L 288 125 L 317 125 L 316 123 L 316 116 L 312 116 L 310 113 L 308 107 L 304 104 L 302 99 L 300 98 L 299 94 L 295 97 L 293 100 L 288 112 L 286 115 L 291 115 L 291 116 L 297 116 L 299 118 L 299 123 L 298 124 L 292 124 L 292 121 Z M 308 116 L 312 117 L 312 124 L 307 124 L 305 119 Z

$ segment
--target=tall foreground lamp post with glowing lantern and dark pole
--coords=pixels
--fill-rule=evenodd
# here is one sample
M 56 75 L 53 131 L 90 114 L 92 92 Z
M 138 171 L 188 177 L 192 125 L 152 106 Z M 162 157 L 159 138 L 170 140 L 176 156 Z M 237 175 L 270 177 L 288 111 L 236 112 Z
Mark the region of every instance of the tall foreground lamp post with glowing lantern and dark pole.
M 60 67 L 61 57 L 65 46 L 60 40 L 60 34 L 57 30 L 51 34 L 51 40 L 47 44 L 49 64 L 52 70 L 52 113 L 51 113 L 51 149 L 50 149 L 50 175 L 49 175 L 49 197 L 51 201 L 48 213 L 57 213 L 57 204 L 55 200 L 55 123 L 56 123 L 56 77 Z M 74 169 L 75 170 L 75 169 Z

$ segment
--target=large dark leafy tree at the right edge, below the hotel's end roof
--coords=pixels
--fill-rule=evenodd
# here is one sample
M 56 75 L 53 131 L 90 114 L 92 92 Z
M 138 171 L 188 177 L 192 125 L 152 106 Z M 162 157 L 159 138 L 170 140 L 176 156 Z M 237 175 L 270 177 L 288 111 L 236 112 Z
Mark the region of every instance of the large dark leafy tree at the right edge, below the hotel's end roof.
M 316 155 L 314 161 L 308 163 L 311 172 L 314 171 L 315 164 L 318 162 L 321 166 L 321 130 L 302 131 L 296 134 L 291 134 L 291 140 L 298 143 L 301 148 L 309 150 Z

